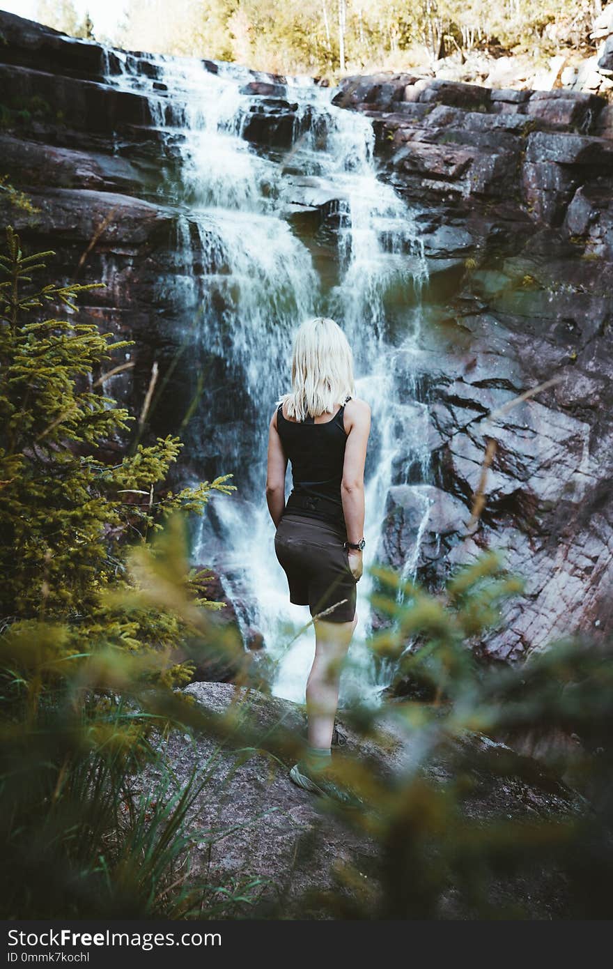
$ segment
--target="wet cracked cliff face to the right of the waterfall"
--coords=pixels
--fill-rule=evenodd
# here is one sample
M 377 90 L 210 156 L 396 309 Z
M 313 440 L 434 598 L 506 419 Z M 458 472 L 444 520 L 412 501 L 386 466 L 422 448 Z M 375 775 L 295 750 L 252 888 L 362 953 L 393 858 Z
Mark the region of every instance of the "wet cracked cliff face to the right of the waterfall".
M 385 176 L 425 208 L 430 292 L 414 366 L 432 484 L 399 469 L 381 558 L 436 587 L 480 549 L 502 549 L 527 584 L 482 643 L 498 658 L 577 628 L 610 632 L 609 109 L 591 95 L 402 75 L 347 78 L 336 100 L 373 119 Z M 490 439 L 487 504 L 467 537 Z

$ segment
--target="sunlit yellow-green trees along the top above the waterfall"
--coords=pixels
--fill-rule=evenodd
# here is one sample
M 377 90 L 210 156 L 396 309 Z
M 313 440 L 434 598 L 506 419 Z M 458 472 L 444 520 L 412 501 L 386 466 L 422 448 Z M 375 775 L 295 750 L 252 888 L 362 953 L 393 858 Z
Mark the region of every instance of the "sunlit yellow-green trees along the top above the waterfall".
M 73 0 L 40 0 L 48 26 L 128 49 L 206 56 L 262 71 L 321 76 L 427 67 L 453 51 L 543 58 L 589 47 L 601 0 L 127 0 L 98 37 Z

